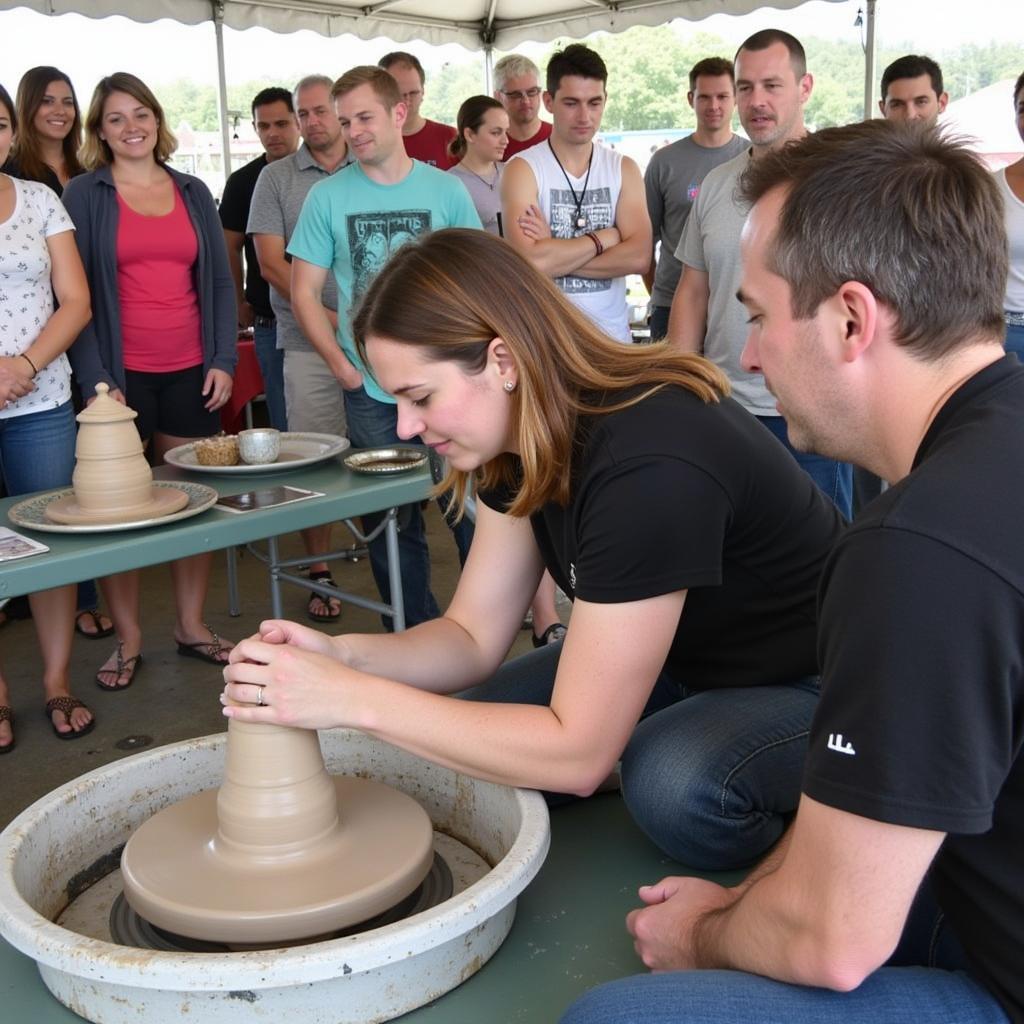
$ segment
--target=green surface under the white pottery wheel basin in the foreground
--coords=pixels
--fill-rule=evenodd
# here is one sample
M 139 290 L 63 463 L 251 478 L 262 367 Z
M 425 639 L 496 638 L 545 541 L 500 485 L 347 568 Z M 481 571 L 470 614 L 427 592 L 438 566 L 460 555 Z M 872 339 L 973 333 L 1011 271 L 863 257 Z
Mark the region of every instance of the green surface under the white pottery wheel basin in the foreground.
M 693 873 L 664 857 L 617 795 L 555 809 L 540 873 L 519 897 L 504 945 L 468 981 L 402 1024 L 550 1024 L 578 995 L 644 968 L 624 921 L 637 887 Z M 724 883 L 738 881 L 718 876 Z M 0 1006 L 17 1024 L 81 1020 L 43 986 L 35 964 L 0 940 Z

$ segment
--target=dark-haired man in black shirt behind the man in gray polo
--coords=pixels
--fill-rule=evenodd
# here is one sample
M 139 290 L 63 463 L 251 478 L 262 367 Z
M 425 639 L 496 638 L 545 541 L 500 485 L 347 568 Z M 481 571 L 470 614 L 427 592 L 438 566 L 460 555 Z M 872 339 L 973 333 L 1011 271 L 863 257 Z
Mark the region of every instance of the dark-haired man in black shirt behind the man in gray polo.
M 251 234 L 246 233 L 249 207 L 256 179 L 268 163 L 291 156 L 299 147 L 299 123 L 288 89 L 262 89 L 253 97 L 253 127 L 263 153 L 240 167 L 224 184 L 220 200 L 220 223 L 227 246 L 227 259 L 234 279 L 239 327 L 253 329 L 256 358 L 263 375 L 270 426 L 287 430 L 285 413 L 285 353 L 278 348 L 276 322 L 270 308 L 270 286 L 260 276 L 259 261 Z M 242 285 L 242 253 L 245 251 L 245 288 Z

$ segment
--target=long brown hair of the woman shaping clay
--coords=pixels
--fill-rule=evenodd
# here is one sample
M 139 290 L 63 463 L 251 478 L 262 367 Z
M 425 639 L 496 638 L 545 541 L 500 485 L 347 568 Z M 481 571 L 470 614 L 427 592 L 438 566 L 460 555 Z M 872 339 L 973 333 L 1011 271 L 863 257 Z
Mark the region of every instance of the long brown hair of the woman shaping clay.
M 521 478 L 509 455 L 488 462 L 479 477 L 483 487 L 518 486 L 508 509 L 516 516 L 568 502 L 580 416 L 626 409 L 669 385 L 705 402 L 729 390 L 722 372 L 699 355 L 664 342 L 612 341 L 553 282 L 486 231 L 447 228 L 402 246 L 367 290 L 352 326 L 365 362 L 367 340 L 387 338 L 474 374 L 483 369 L 490 342 L 505 342 L 518 370 L 509 400 Z M 461 509 L 469 483 L 470 474 L 450 470 L 438 489 L 452 488 Z

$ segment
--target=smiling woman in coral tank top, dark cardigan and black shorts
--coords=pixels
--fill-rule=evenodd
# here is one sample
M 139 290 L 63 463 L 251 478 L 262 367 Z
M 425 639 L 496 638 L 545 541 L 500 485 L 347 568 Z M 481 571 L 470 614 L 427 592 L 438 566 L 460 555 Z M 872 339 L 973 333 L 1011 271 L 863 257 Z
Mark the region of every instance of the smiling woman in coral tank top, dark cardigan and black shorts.
M 220 222 L 206 185 L 167 166 L 176 141 L 147 86 L 125 72 L 96 86 L 83 162 L 65 205 L 92 292 L 92 323 L 72 352 L 82 393 L 100 381 L 138 413 L 154 464 L 219 429 L 236 364 L 234 291 Z M 214 665 L 224 644 L 203 622 L 210 555 L 171 565 L 179 654 Z M 141 657 L 139 577 L 101 583 L 118 646 L 96 676 L 128 687 Z

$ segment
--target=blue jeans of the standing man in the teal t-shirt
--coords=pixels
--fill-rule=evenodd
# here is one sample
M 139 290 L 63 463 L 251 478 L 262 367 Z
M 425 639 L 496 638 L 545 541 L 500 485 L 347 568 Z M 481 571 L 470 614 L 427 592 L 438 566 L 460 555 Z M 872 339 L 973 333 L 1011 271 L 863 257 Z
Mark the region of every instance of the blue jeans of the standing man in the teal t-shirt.
M 345 416 L 348 419 L 348 436 L 353 447 L 381 447 L 401 443 L 397 434 L 398 413 L 390 402 L 370 397 L 365 388 L 345 392 Z M 418 441 L 419 438 L 412 438 Z M 364 531 L 376 528 L 383 519 L 382 513 L 362 517 Z M 473 524 L 463 519 L 452 525 L 460 563 L 465 562 L 473 539 Z M 406 606 L 406 625 L 416 626 L 440 614 L 437 599 L 430 590 L 430 551 L 427 548 L 426 527 L 420 506 L 406 505 L 398 513 L 398 560 L 401 565 L 401 593 Z M 383 535 L 370 544 L 370 567 L 374 581 L 385 603 L 391 601 L 391 585 L 387 574 L 387 546 Z M 391 628 L 391 620 L 384 616 L 384 626 Z

